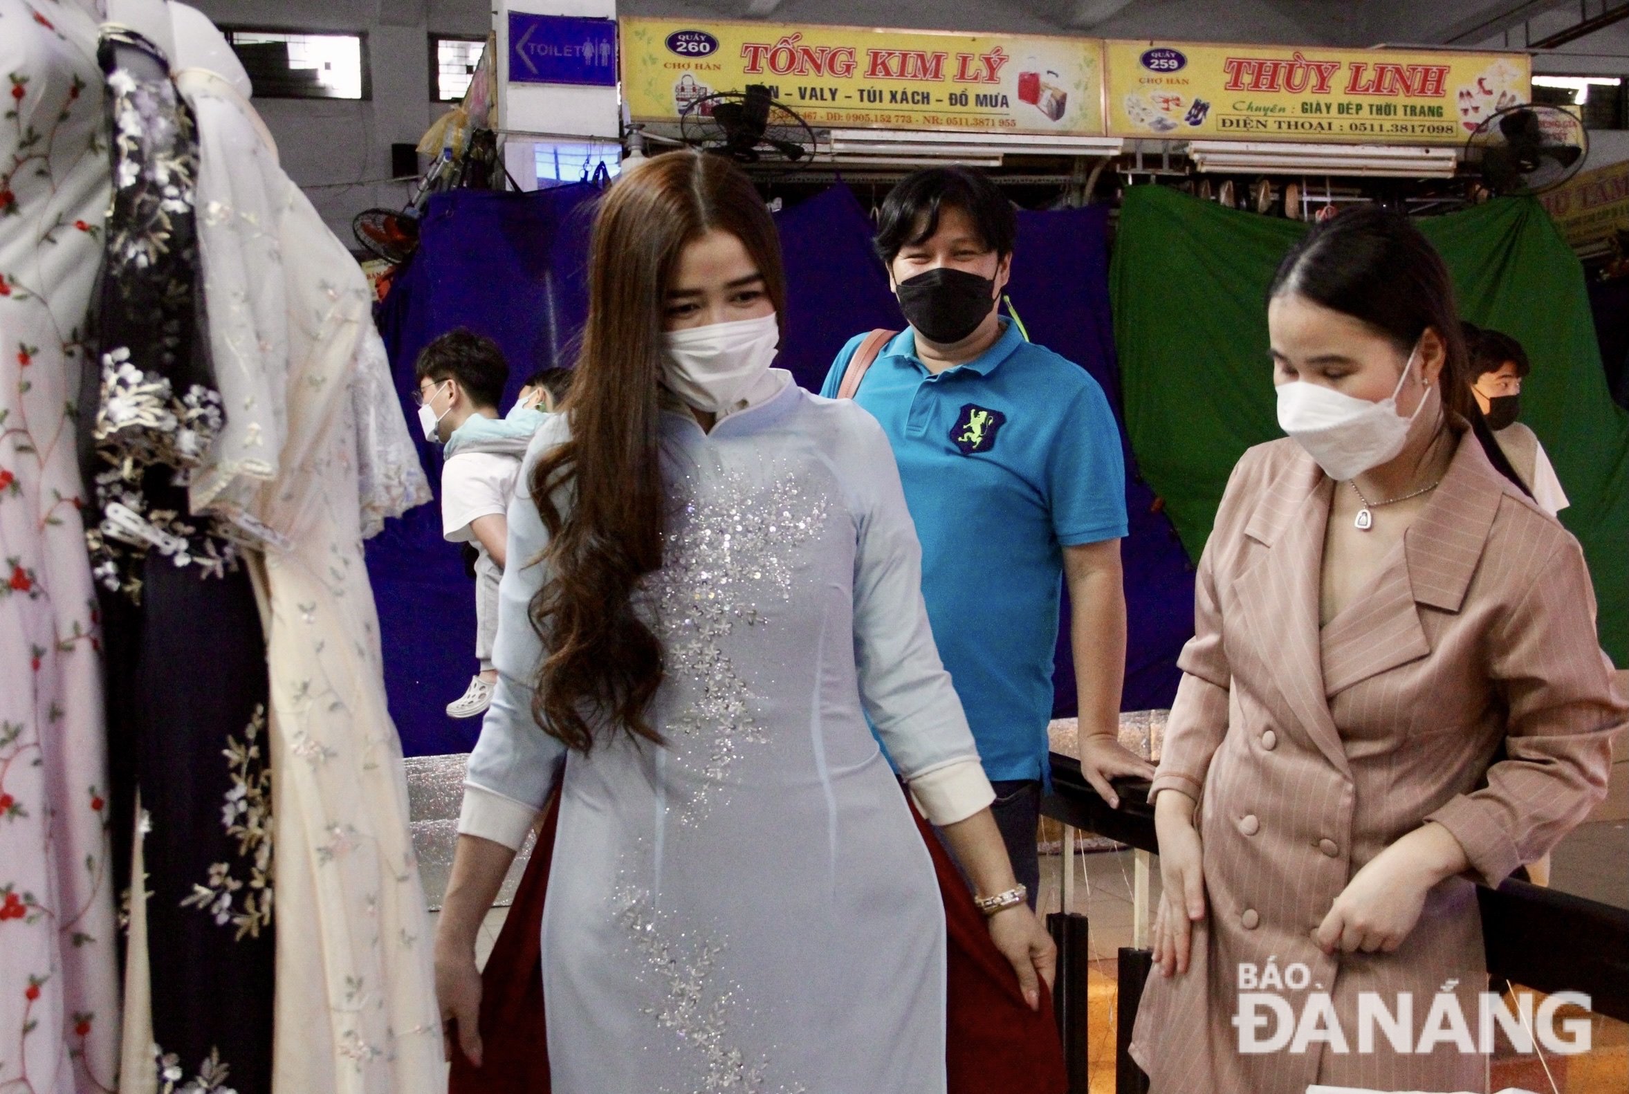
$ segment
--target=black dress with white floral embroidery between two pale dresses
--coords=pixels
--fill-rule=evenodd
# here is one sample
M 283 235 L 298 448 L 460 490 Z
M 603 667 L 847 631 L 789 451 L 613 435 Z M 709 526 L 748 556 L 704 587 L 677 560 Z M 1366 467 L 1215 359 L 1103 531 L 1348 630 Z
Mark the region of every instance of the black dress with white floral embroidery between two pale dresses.
M 187 497 L 223 407 L 204 337 L 197 132 L 173 52 L 163 0 L 109 0 L 114 200 L 85 404 L 130 891 L 121 1073 L 130 1091 L 184 1078 L 256 1094 L 270 1089 L 275 951 L 266 646 L 239 539 Z

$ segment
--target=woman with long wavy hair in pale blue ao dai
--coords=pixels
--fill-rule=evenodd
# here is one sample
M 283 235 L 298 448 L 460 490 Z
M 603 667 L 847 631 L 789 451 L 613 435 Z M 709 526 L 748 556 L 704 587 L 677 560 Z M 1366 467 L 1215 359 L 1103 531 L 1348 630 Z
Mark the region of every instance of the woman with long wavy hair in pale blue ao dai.
M 627 169 L 590 254 L 570 402 L 510 506 L 435 943 L 450 1042 L 481 1063 L 476 933 L 560 773 L 555 1094 L 940 1094 L 946 912 L 867 718 L 1031 1004 L 1054 947 L 933 648 L 888 441 L 771 368 L 779 241 L 728 160 Z

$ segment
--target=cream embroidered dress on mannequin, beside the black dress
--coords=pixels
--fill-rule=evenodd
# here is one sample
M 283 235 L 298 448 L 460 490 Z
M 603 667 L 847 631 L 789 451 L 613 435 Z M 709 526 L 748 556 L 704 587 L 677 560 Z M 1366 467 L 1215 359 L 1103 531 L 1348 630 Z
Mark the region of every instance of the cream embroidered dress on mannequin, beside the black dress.
M 430 928 L 362 560 L 363 537 L 430 488 L 362 269 L 279 166 L 220 31 L 168 8 L 176 86 L 197 119 L 207 342 L 226 418 L 189 501 L 246 545 L 270 677 L 272 1089 L 433 1094 L 446 1079 Z

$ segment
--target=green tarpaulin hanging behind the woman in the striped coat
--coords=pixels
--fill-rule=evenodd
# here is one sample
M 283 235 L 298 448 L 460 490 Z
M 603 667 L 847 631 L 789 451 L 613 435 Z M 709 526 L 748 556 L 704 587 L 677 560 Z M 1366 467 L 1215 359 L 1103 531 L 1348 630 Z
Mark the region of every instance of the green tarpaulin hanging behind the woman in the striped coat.
M 1461 314 L 1526 347 L 1521 420 L 1572 500 L 1601 646 L 1629 666 L 1629 414 L 1601 370 L 1583 270 L 1533 199 L 1419 220 L 1453 274 Z M 1266 291 L 1305 225 L 1158 186 L 1126 192 L 1109 272 L 1132 449 L 1199 558 L 1228 472 L 1279 430 Z

